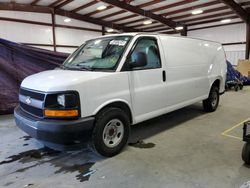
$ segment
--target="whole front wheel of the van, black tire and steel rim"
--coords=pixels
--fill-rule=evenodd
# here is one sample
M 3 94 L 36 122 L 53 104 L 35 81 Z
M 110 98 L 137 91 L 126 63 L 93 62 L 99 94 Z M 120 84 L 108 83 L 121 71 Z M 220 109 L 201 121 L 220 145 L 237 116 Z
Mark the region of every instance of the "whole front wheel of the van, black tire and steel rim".
M 92 143 L 95 151 L 105 157 L 120 153 L 130 132 L 128 115 L 120 108 L 107 108 L 96 117 Z

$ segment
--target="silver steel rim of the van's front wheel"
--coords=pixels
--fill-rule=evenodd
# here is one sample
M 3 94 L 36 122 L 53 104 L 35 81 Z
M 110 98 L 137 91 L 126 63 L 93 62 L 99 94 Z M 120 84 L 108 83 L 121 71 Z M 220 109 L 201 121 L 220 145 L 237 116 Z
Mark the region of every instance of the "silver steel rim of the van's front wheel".
M 103 129 L 102 139 L 109 148 L 119 145 L 124 136 L 124 125 L 119 119 L 110 120 Z

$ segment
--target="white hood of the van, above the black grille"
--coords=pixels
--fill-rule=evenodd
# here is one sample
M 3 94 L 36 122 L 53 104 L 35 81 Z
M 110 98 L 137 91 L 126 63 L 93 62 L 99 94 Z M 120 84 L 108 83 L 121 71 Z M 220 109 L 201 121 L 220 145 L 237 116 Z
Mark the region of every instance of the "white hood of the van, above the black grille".
M 110 74 L 110 72 L 50 70 L 28 76 L 23 80 L 21 87 L 44 92 L 75 90 L 83 82 Z

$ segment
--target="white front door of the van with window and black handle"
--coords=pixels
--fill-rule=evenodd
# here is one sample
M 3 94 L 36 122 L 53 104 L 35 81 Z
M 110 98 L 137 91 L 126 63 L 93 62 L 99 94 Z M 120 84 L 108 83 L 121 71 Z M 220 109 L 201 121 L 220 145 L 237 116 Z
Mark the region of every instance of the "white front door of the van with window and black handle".
M 136 122 L 163 114 L 166 110 L 166 75 L 155 37 L 139 37 L 127 58 L 133 62 L 136 53 L 146 54 L 147 64 L 129 71 L 130 94 Z

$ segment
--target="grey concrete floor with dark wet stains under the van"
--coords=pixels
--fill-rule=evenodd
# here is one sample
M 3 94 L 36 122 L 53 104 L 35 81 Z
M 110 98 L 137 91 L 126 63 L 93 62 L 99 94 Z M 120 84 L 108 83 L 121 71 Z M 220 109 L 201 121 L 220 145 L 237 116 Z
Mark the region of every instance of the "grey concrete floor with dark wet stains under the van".
M 0 187 L 240 187 L 250 180 L 241 160 L 242 126 L 250 117 L 250 88 L 227 92 L 218 110 L 195 104 L 132 128 L 130 143 L 113 158 L 89 148 L 45 151 L 19 130 L 12 115 L 0 116 Z M 140 144 L 139 144 L 140 146 Z

